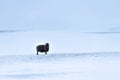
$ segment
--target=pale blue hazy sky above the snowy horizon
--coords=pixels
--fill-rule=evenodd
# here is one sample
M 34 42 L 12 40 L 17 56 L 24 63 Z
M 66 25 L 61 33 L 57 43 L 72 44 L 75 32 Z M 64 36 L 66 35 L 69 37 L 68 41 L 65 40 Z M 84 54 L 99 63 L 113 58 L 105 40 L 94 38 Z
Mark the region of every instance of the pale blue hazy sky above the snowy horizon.
M 0 0 L 0 27 L 109 31 L 120 26 L 119 0 Z

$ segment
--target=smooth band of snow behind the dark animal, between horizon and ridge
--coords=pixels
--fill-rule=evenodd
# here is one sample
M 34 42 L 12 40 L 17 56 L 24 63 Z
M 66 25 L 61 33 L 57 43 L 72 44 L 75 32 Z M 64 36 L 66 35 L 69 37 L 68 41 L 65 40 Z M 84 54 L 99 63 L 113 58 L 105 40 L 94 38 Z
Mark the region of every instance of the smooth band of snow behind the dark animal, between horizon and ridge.
M 48 42 L 49 53 L 91 53 L 120 51 L 119 33 L 78 31 L 16 31 L 0 33 L 0 55 L 33 55 L 36 46 Z

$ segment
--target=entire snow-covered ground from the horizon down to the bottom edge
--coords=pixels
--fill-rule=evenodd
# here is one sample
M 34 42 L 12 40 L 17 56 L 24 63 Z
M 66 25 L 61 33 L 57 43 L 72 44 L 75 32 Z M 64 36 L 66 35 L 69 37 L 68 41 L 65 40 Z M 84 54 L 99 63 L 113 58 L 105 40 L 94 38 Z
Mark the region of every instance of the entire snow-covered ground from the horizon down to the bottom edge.
M 120 34 L 17 31 L 0 34 L 0 80 L 120 80 Z M 48 55 L 36 46 L 50 43 Z

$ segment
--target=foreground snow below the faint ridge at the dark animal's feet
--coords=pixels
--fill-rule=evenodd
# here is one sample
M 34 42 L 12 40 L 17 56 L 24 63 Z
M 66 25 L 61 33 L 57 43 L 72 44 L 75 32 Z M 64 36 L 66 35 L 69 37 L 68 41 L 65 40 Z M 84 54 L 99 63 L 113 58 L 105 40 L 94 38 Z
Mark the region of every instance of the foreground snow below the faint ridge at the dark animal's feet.
M 0 56 L 0 80 L 120 80 L 120 53 Z

